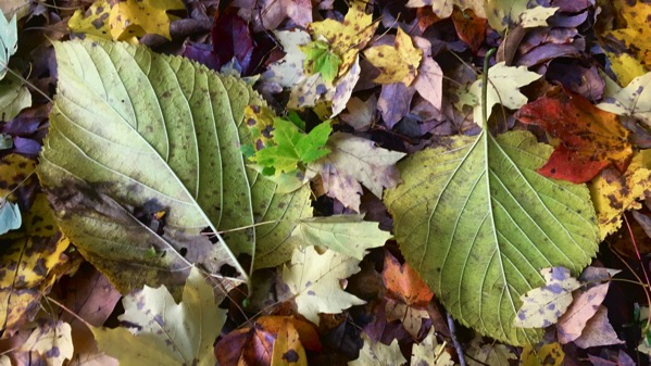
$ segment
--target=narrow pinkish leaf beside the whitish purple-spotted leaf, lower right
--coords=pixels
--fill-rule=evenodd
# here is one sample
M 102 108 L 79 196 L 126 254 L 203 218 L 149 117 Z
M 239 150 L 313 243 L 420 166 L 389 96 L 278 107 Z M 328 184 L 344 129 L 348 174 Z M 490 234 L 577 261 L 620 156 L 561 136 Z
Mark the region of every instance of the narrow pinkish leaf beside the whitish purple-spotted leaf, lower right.
M 579 338 L 586 324 L 599 310 L 605 299 L 610 282 L 594 286 L 586 291 L 574 294 L 572 305 L 559 318 L 556 332 L 561 344 L 569 343 Z

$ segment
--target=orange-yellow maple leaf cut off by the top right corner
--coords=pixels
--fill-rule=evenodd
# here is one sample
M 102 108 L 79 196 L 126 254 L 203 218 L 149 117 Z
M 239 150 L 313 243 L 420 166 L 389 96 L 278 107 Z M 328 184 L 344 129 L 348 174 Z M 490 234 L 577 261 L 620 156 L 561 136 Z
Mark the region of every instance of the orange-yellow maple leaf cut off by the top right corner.
M 616 8 L 621 8 L 626 26 L 606 31 L 605 35 L 623 41 L 647 68 L 651 68 L 651 28 L 649 27 L 651 4 L 643 1 L 634 1 L 633 5 L 629 3 L 629 1 L 615 3 Z

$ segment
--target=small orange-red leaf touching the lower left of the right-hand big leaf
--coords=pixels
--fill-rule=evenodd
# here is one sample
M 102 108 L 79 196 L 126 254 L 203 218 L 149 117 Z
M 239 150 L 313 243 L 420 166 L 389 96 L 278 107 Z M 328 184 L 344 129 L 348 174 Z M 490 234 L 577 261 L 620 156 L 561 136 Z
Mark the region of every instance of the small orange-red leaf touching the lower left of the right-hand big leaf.
M 400 265 L 389 252 L 385 255 L 383 280 L 389 290 L 389 295 L 409 306 L 427 307 L 427 303 L 434 296 L 418 274 L 406 263 Z

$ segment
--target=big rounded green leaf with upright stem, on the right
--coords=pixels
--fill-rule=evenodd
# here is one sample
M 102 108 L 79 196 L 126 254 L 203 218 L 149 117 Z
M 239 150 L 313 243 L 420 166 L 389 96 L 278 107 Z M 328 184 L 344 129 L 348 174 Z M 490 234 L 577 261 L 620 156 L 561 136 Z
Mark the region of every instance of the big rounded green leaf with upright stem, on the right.
M 544 285 L 539 270 L 577 275 L 597 250 L 585 185 L 536 173 L 552 150 L 526 131 L 450 138 L 401 163 L 404 182 L 385 195 L 406 262 L 446 308 L 513 344 L 540 337 L 513 327 L 521 294 Z

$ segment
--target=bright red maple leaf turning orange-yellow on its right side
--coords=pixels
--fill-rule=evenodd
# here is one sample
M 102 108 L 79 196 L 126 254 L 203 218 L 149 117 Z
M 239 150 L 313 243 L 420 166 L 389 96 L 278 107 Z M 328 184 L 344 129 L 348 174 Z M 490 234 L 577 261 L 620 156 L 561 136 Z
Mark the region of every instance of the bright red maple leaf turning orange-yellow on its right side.
M 611 164 L 626 171 L 633 156 L 629 132 L 619 118 L 564 88 L 528 103 L 515 117 L 539 125 L 561 139 L 561 144 L 538 169 L 547 177 L 585 182 Z

